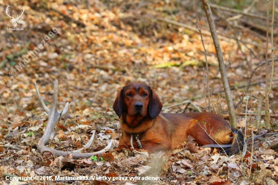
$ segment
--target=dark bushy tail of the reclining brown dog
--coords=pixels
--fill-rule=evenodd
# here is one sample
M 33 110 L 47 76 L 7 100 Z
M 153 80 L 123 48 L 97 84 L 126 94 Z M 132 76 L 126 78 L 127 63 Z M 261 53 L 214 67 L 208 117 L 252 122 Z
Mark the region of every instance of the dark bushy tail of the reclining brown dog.
M 233 143 L 231 144 L 230 148 L 225 150 L 225 153 L 229 156 L 239 153 L 244 146 L 244 137 L 241 131 L 239 131 L 236 128 L 231 128 L 231 131 L 233 132 L 233 136 L 234 136 Z

